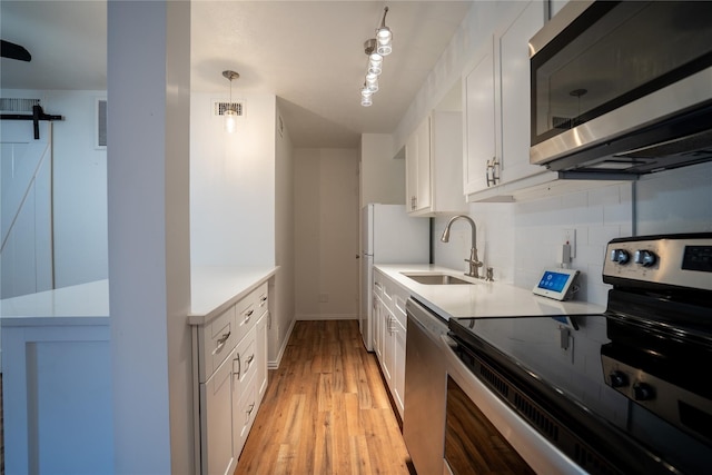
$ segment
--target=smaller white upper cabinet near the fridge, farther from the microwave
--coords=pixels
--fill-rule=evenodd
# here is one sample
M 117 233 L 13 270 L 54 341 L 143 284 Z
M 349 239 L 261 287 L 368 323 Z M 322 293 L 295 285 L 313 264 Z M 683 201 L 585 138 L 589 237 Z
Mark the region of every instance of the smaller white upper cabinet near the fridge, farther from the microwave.
M 413 216 L 466 210 L 462 112 L 433 111 L 406 141 L 406 207 Z

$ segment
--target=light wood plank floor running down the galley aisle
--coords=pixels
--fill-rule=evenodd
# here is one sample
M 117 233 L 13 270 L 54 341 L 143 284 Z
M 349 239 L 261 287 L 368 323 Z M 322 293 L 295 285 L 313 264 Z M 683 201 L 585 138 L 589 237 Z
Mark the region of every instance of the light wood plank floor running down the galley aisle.
M 236 475 L 414 473 L 357 320 L 297 321 L 269 377 Z

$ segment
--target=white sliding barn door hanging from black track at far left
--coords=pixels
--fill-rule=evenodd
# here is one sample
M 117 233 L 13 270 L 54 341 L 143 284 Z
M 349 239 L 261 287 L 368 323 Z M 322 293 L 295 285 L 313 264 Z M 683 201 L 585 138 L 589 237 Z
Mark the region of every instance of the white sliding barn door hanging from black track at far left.
M 52 127 L 3 120 L 0 133 L 0 298 L 53 288 Z

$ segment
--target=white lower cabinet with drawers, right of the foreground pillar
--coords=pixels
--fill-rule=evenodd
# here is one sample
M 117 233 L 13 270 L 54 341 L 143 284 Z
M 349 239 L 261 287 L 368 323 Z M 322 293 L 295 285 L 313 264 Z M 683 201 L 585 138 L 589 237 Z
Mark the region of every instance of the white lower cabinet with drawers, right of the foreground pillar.
M 237 466 L 267 388 L 267 297 L 265 283 L 194 327 L 196 473 L 230 475 Z

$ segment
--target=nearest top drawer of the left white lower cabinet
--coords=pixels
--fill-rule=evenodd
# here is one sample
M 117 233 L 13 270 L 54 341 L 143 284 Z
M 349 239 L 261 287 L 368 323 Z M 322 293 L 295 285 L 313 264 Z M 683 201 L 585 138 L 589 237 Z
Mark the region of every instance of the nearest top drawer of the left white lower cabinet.
M 200 380 L 205 382 L 220 366 L 237 344 L 235 325 L 235 307 L 230 307 L 215 318 L 209 325 L 199 329 L 202 358 L 199 368 Z

